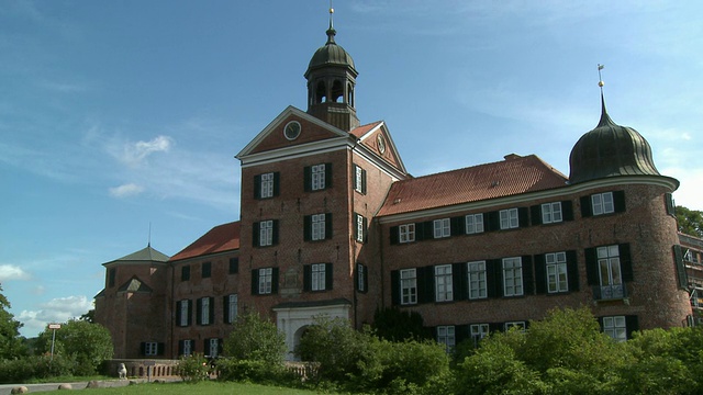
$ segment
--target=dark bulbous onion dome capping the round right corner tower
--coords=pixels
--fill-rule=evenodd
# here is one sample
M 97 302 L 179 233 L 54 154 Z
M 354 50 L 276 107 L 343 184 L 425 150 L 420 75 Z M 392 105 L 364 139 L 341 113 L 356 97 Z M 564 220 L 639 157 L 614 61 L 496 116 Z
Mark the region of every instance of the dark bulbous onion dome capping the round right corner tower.
M 617 176 L 660 176 L 649 143 L 632 127 L 611 120 L 601 93 L 601 121 L 581 136 L 569 156 L 573 183 Z

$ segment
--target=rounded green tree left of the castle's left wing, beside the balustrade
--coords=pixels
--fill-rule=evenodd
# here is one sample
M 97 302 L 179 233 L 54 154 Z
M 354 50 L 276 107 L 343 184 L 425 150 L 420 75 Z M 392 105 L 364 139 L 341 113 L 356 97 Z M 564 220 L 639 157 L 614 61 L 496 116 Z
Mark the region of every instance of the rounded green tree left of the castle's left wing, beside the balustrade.
M 53 329 L 40 334 L 37 349 L 51 351 Z M 56 330 L 54 354 L 76 360 L 76 375 L 96 374 L 100 364 L 112 358 L 113 345 L 110 331 L 100 324 L 71 319 Z

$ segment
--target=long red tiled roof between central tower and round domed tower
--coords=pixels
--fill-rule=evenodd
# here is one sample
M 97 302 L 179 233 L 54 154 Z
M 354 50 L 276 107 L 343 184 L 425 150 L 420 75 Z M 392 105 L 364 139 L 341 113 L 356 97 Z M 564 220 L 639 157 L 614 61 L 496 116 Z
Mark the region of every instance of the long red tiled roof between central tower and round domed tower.
M 410 213 L 566 185 L 567 177 L 535 155 L 394 182 L 378 216 Z

